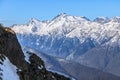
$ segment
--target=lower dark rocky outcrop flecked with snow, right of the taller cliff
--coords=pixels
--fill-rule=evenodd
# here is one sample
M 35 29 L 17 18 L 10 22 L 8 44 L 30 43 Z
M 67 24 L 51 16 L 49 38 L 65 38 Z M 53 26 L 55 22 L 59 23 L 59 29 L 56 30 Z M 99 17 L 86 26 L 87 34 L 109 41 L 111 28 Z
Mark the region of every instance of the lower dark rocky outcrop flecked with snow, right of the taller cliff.
M 34 53 L 29 58 L 28 71 L 18 71 L 21 80 L 69 80 L 62 75 L 46 70 L 44 62 Z

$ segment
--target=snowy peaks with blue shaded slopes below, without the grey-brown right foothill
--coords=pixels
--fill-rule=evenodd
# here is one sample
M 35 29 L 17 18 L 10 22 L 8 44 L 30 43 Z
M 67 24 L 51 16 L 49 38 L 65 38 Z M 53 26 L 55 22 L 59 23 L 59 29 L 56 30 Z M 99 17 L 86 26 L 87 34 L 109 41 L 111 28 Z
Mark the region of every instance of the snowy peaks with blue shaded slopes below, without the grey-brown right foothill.
M 27 24 L 12 26 L 12 29 L 23 46 L 74 60 L 114 37 L 119 38 L 120 17 L 98 17 L 90 21 L 86 17 L 63 13 L 51 21 L 31 19 Z

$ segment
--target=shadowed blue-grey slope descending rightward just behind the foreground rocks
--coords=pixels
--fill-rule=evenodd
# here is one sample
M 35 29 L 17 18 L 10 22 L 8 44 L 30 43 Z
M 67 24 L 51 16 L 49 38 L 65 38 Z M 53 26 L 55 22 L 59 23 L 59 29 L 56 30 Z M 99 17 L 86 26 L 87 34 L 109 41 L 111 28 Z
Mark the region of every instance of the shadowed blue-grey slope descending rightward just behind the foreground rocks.
M 34 50 L 32 48 L 24 47 L 24 54 L 26 58 L 35 53 L 46 64 L 46 68 L 50 71 L 59 72 L 67 76 L 72 76 L 76 80 L 115 80 L 120 78 L 115 78 L 114 75 L 94 69 L 89 68 L 83 65 L 80 65 L 76 62 L 64 60 L 61 58 L 55 58 L 49 55 L 46 55 L 42 52 Z

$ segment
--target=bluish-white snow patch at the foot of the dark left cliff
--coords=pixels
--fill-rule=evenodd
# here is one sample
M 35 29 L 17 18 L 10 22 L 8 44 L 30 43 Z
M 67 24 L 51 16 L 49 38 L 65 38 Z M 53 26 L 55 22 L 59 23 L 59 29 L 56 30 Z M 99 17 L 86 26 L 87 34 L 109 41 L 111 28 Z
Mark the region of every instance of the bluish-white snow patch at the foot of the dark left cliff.
M 6 58 L 3 62 L 3 65 L 0 64 L 0 68 L 2 69 L 2 79 L 3 80 L 20 80 L 17 75 L 16 66 L 14 66 L 8 58 Z

